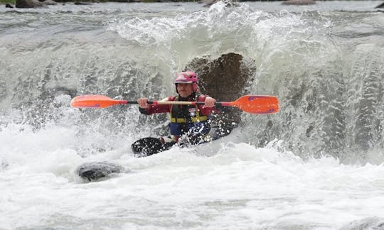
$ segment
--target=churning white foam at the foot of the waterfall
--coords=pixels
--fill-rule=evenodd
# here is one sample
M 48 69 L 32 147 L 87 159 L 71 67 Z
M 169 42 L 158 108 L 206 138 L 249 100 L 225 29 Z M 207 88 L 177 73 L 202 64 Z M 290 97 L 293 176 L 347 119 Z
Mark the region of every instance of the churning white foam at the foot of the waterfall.
M 0 132 L 8 164 L 0 180 L 3 229 L 337 229 L 383 218 L 383 165 L 303 161 L 282 141 L 255 148 L 229 137 L 147 158 L 132 157 L 129 146 L 80 158 L 70 128 L 15 129 Z M 105 159 L 129 172 L 90 183 L 76 177 L 77 165 Z

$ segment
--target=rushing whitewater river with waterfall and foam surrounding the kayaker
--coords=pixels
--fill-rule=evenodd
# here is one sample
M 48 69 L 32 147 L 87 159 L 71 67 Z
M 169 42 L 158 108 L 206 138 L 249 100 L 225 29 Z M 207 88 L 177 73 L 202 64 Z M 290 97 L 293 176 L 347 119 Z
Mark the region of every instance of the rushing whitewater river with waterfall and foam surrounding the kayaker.
M 1 7 L 0 229 L 384 229 L 380 3 Z M 69 106 L 161 99 L 193 58 L 227 53 L 280 111 L 205 146 L 135 158 L 166 116 Z M 102 160 L 126 172 L 76 174 Z

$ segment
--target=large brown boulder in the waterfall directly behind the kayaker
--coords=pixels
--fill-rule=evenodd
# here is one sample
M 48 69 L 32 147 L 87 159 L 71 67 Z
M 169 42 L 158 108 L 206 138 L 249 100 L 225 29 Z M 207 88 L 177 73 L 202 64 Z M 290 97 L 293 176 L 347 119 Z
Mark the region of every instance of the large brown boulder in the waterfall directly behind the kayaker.
M 256 68 L 245 65 L 242 55 L 228 53 L 216 60 L 196 58 L 186 66 L 186 70 L 196 71 L 199 77 L 199 87 L 203 94 L 208 94 L 218 102 L 233 102 L 247 94 L 247 82 Z M 240 122 L 242 111 L 233 107 L 223 107 L 213 119 L 220 126 L 219 136 L 225 136 Z

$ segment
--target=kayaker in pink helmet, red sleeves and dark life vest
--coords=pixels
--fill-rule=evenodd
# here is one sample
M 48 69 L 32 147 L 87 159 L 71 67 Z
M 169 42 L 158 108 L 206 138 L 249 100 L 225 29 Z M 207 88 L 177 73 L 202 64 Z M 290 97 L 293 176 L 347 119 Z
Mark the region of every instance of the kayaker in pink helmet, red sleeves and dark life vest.
M 173 146 L 181 140 L 191 144 L 203 143 L 210 131 L 210 114 L 215 110 L 216 100 L 198 91 L 198 76 L 196 72 L 179 72 L 174 80 L 176 96 L 167 97 L 166 101 L 204 102 L 202 105 L 170 105 L 148 104 L 147 98 L 137 99 L 139 111 L 151 115 L 170 113 L 169 129 L 171 137 L 161 137 L 160 141 L 167 146 Z

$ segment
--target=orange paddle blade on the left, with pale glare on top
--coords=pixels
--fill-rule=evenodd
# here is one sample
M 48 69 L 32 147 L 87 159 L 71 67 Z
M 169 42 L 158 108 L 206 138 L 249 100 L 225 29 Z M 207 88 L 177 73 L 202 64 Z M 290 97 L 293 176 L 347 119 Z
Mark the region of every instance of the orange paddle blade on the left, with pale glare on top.
M 73 108 L 105 108 L 114 104 L 127 104 L 127 101 L 114 100 L 103 95 L 82 95 L 70 102 Z

